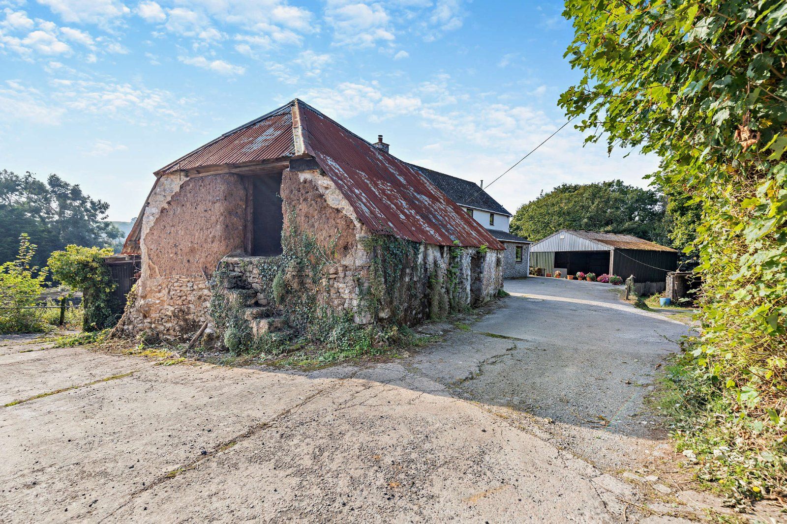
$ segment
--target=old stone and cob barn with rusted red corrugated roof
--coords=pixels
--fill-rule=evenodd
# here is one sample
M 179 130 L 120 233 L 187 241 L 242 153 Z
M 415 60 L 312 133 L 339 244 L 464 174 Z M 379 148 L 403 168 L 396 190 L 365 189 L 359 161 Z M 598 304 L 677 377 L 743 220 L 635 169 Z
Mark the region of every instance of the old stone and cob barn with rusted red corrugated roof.
M 116 334 L 227 345 L 489 301 L 504 245 L 421 172 L 294 100 L 155 172 Z

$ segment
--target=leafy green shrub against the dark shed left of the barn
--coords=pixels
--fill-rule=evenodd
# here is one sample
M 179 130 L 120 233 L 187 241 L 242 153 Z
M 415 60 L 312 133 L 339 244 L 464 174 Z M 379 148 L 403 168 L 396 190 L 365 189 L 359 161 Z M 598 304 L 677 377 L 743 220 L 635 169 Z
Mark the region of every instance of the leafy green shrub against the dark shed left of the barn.
M 103 330 L 117 323 L 112 295 L 115 283 L 102 260 L 112 253 L 109 248 L 67 245 L 64 251 L 55 251 L 50 256 L 49 267 L 54 279 L 82 291 L 82 329 L 85 331 Z

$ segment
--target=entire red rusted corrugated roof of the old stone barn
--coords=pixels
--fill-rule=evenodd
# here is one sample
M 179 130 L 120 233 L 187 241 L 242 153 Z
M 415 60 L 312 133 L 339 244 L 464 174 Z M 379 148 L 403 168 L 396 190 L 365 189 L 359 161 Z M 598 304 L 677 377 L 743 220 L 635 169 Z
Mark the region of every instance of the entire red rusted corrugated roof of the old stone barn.
M 382 151 L 297 98 L 195 149 L 156 172 L 248 166 L 309 154 L 373 233 L 435 245 L 504 249 L 416 168 Z M 127 239 L 129 242 L 131 231 Z M 136 228 L 139 235 L 139 228 Z M 126 249 L 124 249 L 124 253 Z

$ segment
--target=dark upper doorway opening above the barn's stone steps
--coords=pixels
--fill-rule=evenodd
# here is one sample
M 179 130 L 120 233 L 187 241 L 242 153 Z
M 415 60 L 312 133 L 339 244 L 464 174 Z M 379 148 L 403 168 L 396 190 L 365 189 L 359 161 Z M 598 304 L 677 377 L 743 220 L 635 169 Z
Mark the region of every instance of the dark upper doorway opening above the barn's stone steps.
M 251 255 L 282 254 L 282 174 L 258 175 L 251 179 Z

